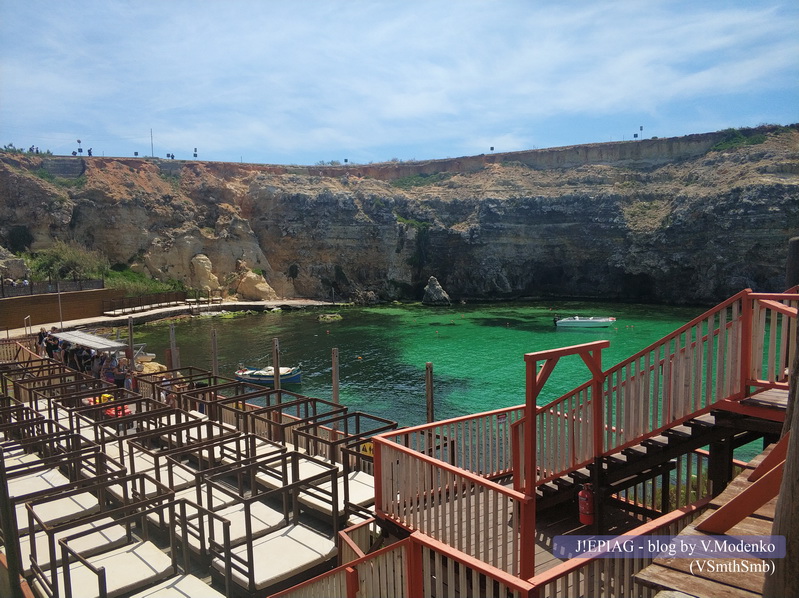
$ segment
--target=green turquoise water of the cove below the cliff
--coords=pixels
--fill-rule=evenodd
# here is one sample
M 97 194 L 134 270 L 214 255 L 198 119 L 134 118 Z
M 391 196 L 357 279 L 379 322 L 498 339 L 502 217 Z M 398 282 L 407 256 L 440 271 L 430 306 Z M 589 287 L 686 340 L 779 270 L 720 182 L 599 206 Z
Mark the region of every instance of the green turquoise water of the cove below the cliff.
M 327 312 L 342 319 L 320 322 L 322 311 L 307 309 L 232 318 L 193 318 L 175 324 L 181 364 L 211 369 L 211 331 L 216 330 L 220 375 L 239 364 L 263 367 L 272 361 L 278 338 L 281 365 L 300 365 L 303 381 L 286 388 L 330 399 L 331 352 L 339 350 L 341 402 L 352 410 L 414 425 L 425 421 L 425 364 L 434 372 L 435 417 L 446 419 L 524 402 L 524 354 L 609 340 L 603 367 L 623 361 L 704 311 L 613 303 L 467 304 L 341 307 Z M 615 326 L 565 330 L 562 316 L 614 316 Z M 164 363 L 166 324 L 138 326 L 135 341 L 147 343 Z M 554 399 L 589 378 L 579 357 L 562 359 L 539 403 Z

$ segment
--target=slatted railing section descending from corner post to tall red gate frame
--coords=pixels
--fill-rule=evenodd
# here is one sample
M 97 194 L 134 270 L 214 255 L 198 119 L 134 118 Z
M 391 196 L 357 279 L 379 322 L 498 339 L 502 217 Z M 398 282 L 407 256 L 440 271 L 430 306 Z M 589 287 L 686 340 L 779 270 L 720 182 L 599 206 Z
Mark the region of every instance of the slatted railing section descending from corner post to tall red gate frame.
M 475 559 L 519 575 L 524 495 L 405 446 L 376 437 L 379 516 L 419 530 Z

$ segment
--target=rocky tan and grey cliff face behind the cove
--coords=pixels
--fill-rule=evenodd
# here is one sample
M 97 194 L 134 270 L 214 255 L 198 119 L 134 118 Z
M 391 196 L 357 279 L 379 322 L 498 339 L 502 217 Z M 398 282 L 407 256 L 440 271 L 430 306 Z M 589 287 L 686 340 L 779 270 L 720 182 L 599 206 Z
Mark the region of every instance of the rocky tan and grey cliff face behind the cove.
M 421 299 L 435 276 L 454 300 L 715 302 L 782 290 L 799 234 L 799 131 L 755 133 L 348 168 L 0 154 L 0 245 L 282 297 Z M 65 160 L 78 178 L 49 174 Z

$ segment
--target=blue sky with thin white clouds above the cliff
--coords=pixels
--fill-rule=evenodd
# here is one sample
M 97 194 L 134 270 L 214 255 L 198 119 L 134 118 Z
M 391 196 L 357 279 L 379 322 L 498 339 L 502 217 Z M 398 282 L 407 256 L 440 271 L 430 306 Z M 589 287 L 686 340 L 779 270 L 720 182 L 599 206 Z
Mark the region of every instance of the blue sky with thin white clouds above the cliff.
M 423 160 L 799 121 L 799 3 L 0 0 L 0 144 Z

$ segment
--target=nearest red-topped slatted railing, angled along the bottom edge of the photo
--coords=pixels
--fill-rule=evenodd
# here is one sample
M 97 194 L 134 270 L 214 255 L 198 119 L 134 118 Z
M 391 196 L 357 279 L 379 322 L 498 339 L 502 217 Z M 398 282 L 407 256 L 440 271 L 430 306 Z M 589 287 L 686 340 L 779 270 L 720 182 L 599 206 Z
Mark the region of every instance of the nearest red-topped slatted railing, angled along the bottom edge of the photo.
M 708 499 L 645 523 L 626 536 L 674 536 L 701 515 Z M 456 598 L 583 598 L 653 596 L 656 590 L 639 584 L 634 575 L 651 556 L 634 558 L 574 558 L 524 580 L 498 570 L 419 532 L 346 561 L 342 566 L 272 598 L 358 598 L 361 596 Z

